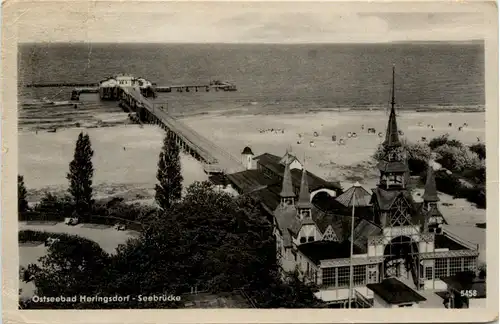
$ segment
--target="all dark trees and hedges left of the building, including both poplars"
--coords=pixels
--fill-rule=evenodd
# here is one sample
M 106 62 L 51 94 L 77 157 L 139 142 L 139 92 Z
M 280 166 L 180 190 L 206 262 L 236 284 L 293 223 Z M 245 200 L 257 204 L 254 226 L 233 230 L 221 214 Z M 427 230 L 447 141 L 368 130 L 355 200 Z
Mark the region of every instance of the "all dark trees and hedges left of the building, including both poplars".
M 79 215 L 99 211 L 108 217 L 129 217 L 131 208 L 120 208 L 120 202 L 99 205 L 92 199 L 93 151 L 87 135 L 79 136 L 76 150 L 68 174 L 72 199 L 54 201 L 52 196 L 43 202 L 45 208 L 68 212 L 73 206 Z M 33 278 L 37 294 L 180 295 L 197 287 L 213 293 L 244 289 L 259 307 L 322 306 L 313 294 L 314 287 L 304 285 L 297 274 L 282 280 L 272 224 L 259 202 L 218 192 L 209 182 L 189 186 L 182 197 L 179 149 L 169 134 L 159 156 L 157 179 L 158 208 L 147 213 L 132 209 L 142 223 L 139 237 L 120 245 L 113 255 L 79 239 L 53 244 L 40 266 L 28 267 L 31 273 L 27 277 Z M 20 199 L 26 196 L 26 190 L 21 191 Z M 23 307 L 176 308 L 183 303 L 27 301 Z

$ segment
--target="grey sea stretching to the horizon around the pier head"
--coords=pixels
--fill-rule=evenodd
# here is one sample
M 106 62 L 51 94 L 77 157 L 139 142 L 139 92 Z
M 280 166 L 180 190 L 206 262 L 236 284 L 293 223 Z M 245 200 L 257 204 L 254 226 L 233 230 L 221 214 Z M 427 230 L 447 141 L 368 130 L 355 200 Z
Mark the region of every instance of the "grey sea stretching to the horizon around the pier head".
M 21 44 L 19 98 L 68 100 L 71 88 L 118 73 L 158 85 L 234 83 L 236 92 L 163 93 L 177 112 L 244 108 L 262 113 L 387 107 L 395 67 L 397 107 L 484 109 L 484 44 Z M 85 95 L 98 100 L 97 95 Z M 429 108 L 430 107 L 430 108 Z

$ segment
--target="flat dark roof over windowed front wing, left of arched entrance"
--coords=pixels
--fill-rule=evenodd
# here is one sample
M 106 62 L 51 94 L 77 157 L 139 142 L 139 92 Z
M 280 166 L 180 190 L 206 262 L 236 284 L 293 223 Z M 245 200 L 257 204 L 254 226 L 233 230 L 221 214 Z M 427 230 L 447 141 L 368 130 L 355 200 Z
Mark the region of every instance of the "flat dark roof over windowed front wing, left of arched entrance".
M 321 260 L 349 258 L 351 255 L 349 241 L 315 241 L 301 244 L 297 249 L 315 264 L 319 264 Z M 360 253 L 362 252 L 354 246 L 354 254 Z

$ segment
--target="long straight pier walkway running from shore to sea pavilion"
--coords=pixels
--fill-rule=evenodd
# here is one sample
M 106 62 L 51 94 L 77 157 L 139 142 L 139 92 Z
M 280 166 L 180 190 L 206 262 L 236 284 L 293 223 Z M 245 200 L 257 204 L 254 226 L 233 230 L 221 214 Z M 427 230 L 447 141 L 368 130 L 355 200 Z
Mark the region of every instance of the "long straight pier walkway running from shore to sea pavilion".
M 145 98 L 139 89 L 122 87 L 122 91 L 122 104 L 135 111 L 140 121 L 155 123 L 170 130 L 183 150 L 203 162 L 206 173 L 233 173 L 244 169 L 237 158 L 170 116 L 162 107 Z

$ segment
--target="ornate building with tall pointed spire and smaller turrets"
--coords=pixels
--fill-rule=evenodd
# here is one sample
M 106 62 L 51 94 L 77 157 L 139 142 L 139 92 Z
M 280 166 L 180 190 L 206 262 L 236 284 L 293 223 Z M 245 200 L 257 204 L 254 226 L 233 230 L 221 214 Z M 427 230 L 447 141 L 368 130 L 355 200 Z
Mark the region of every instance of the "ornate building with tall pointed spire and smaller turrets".
M 443 278 L 477 270 L 478 247 L 442 227 L 446 220 L 438 208 L 432 163 L 423 201 L 414 200 L 399 136 L 393 69 L 380 176 L 371 192 L 359 183 L 342 192 L 309 173 L 289 152 L 281 159 L 267 153 L 254 157 L 252 169 L 227 175 L 240 194 L 265 206 L 283 271 L 298 271 L 332 307 L 345 307 L 351 297 L 360 307 L 420 307 L 426 301 L 420 292 L 446 290 Z M 333 192 L 334 207 L 314 203 L 321 190 Z M 398 300 L 384 297 L 391 289 Z

